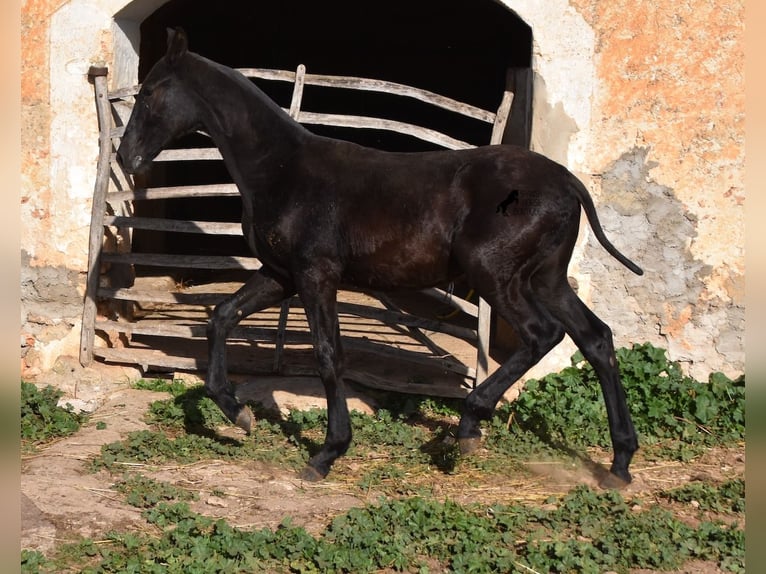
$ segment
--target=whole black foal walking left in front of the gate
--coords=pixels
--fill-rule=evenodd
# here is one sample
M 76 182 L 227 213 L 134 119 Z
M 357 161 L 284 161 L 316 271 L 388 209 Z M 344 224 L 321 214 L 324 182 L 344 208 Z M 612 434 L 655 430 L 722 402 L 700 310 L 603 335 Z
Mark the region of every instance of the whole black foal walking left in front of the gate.
M 243 75 L 189 52 L 182 30 L 168 30 L 167 53 L 136 96 L 119 161 L 135 173 L 196 130 L 218 146 L 242 195 L 245 238 L 263 264 L 216 307 L 207 329 L 205 387 L 232 422 L 249 431 L 253 415 L 227 378 L 227 335 L 242 318 L 297 293 L 328 411 L 324 445 L 302 477 L 325 477 L 351 442 L 338 289 L 421 289 L 462 275 L 520 343 L 466 397 L 461 451 L 478 447 L 480 421 L 567 333 L 593 365 L 606 401 L 614 459 L 602 484 L 630 482 L 638 441 L 612 333 L 567 282 L 581 208 L 601 245 L 643 272 L 606 238 L 587 189 L 567 169 L 508 145 L 390 153 L 314 135 Z

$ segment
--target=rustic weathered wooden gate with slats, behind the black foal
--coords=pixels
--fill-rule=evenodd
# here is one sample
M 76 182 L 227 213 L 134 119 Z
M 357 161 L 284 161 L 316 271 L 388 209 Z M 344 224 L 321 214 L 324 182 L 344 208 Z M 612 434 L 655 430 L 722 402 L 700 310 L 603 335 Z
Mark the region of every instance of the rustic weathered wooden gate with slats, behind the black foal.
M 343 88 L 392 94 L 414 99 L 427 106 L 458 114 L 486 125 L 488 143 L 500 143 L 513 94 L 506 91 L 496 111 L 487 111 L 426 90 L 367 78 L 307 74 L 304 66 L 295 72 L 240 69 L 256 82 L 283 82 L 292 86 L 286 111 L 309 125 L 387 130 L 406 134 L 448 149 L 475 147 L 440 131 L 384 118 L 320 113 L 302 106 L 307 86 Z M 136 253 L 131 249 L 134 230 L 173 234 L 241 236 L 241 226 L 225 221 L 190 221 L 135 214 L 137 202 L 171 198 L 238 197 L 230 184 L 195 184 L 173 187 L 140 187 L 127 176 L 115 159 L 133 98 L 140 86 L 108 91 L 107 69 L 91 68 L 100 131 L 100 153 L 90 229 L 88 276 L 83 309 L 80 362 L 94 358 L 107 362 L 179 371 L 206 369 L 205 330 L 213 306 L 239 284 L 211 281 L 185 287 L 162 285 L 142 279 L 137 270 L 146 268 L 205 269 L 223 274 L 227 270 L 254 270 L 255 257 L 236 254 L 174 255 Z M 157 162 L 221 162 L 214 147 L 165 150 Z M 240 283 L 241 284 L 241 283 Z M 369 386 L 401 392 L 441 396 L 464 396 L 487 376 L 489 362 L 490 309 L 483 301 L 473 303 L 445 289 L 421 292 L 437 306 L 402 305 L 395 297 L 380 293 L 342 292 L 339 315 L 344 348 L 349 355 L 346 377 Z M 405 309 L 406 307 L 406 309 Z M 442 312 L 439 312 L 441 307 Z M 444 313 L 445 308 L 454 309 Z M 445 315 L 448 315 L 445 317 Z M 456 318 L 449 317 L 455 315 Z M 468 324 L 466 324 L 466 320 Z M 455 337 L 470 345 L 473 358 L 445 351 L 440 337 Z M 230 371 L 313 375 L 313 355 L 308 326 L 297 297 L 281 308 L 255 313 L 242 321 L 228 342 Z M 372 353 L 372 355 L 370 355 Z M 368 368 L 370 356 L 389 358 L 391 364 L 407 364 L 408 374 L 390 376 Z M 286 360 L 287 357 L 287 360 Z M 380 363 L 380 360 L 377 361 Z M 400 363 L 404 362 L 404 363 Z M 442 375 L 448 375 L 444 380 Z

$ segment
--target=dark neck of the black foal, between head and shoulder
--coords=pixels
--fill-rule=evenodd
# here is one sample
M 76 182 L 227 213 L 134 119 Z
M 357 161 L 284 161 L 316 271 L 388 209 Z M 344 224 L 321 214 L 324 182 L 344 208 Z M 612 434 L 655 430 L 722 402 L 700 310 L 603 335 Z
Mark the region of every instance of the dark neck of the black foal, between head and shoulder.
M 201 56 L 193 62 L 189 78 L 202 123 L 230 170 L 240 171 L 239 158 L 278 161 L 309 133 L 239 72 Z

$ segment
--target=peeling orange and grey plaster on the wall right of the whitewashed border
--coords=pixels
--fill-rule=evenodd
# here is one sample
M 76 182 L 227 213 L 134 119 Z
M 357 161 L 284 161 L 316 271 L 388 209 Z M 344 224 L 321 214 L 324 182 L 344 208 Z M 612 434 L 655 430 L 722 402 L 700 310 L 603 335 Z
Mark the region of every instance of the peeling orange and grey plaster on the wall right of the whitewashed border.
M 611 321 L 621 344 L 652 340 L 703 379 L 739 373 L 743 2 L 573 5 L 596 30 L 587 171 L 607 232 L 647 271 L 595 273 L 589 249 L 582 284 L 603 316 L 619 316 L 615 301 L 627 307 L 627 320 Z

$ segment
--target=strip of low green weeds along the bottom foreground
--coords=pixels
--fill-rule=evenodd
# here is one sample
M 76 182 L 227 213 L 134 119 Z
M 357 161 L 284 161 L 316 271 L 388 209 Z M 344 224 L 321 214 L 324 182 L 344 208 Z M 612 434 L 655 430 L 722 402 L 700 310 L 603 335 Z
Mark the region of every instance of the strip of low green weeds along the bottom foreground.
M 141 488 L 143 488 L 141 486 Z M 692 528 L 666 511 L 635 511 L 614 492 L 578 487 L 547 509 L 522 504 L 460 505 L 421 497 L 382 499 L 335 518 L 314 537 L 289 520 L 245 530 L 161 501 L 146 520 L 158 537 L 111 533 L 80 541 L 55 560 L 22 555 L 23 572 L 626 572 L 669 570 L 696 558 L 744 572 L 744 533 L 706 522 Z M 66 560 L 64 564 L 61 560 Z

